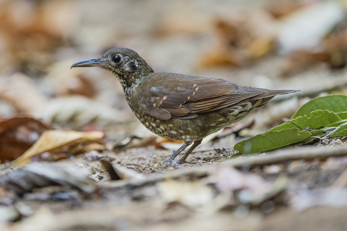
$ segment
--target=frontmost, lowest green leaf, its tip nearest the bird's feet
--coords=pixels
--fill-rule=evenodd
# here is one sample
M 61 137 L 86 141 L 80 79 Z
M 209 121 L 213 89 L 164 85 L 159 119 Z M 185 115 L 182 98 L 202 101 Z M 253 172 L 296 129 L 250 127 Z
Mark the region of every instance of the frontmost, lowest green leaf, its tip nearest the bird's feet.
M 322 131 L 314 131 L 314 133 L 317 132 L 320 133 Z M 304 142 L 312 135 L 314 135 L 312 132 L 299 130 L 298 128 L 268 131 L 264 134 L 253 136 L 248 140 L 238 142 L 235 144 L 234 148 L 238 150 L 239 153 L 265 152 Z

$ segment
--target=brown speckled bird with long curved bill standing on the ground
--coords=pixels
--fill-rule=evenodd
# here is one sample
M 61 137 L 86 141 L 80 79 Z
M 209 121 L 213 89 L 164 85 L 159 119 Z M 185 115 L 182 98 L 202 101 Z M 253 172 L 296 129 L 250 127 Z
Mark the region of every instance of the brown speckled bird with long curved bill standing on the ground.
M 71 68 L 98 67 L 112 72 L 119 80 L 130 108 L 151 132 L 170 140 L 184 141 L 163 164 L 171 163 L 193 143 L 178 165 L 204 137 L 243 119 L 254 108 L 276 95 L 297 90 L 268 90 L 236 83 L 169 72 L 154 72 L 135 51 L 112 48 L 100 58 L 75 62 Z

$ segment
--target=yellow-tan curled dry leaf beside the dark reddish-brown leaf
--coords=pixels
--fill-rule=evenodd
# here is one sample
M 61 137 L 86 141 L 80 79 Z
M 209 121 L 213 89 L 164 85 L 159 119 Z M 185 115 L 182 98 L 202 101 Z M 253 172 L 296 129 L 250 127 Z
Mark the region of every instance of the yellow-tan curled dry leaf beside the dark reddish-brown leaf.
M 59 151 L 63 148 L 88 141 L 99 141 L 103 136 L 103 132 L 45 131 L 30 149 L 13 162 L 12 166 L 20 167 L 27 165 L 30 162 L 30 158 L 37 154 Z

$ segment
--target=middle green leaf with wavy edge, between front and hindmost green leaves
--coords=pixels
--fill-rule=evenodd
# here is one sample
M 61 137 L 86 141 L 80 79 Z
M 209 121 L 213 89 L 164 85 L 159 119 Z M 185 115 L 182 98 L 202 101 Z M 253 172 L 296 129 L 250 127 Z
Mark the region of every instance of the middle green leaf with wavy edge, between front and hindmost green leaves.
M 309 117 L 307 115 L 303 115 L 303 116 L 299 116 L 297 118 L 291 119 L 291 121 L 297 124 L 301 128 L 309 127 L 311 129 L 331 126 L 337 123 L 343 123 L 341 122 L 341 118 L 336 113 L 330 112 L 328 110 L 315 110 L 310 113 Z M 271 128 L 269 131 L 280 131 L 282 129 L 293 128 L 293 127 L 298 128 L 298 126 L 296 126 L 295 124 L 291 122 L 286 122 L 274 128 Z

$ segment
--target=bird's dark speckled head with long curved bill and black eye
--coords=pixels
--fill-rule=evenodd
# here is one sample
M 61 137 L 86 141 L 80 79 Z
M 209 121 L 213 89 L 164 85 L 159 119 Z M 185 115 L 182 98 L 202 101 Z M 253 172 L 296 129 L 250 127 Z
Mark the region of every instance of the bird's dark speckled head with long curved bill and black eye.
M 153 72 L 152 68 L 135 51 L 117 47 L 105 52 L 98 59 L 86 59 L 72 64 L 75 67 L 96 66 L 111 71 L 122 85 L 138 85 Z

